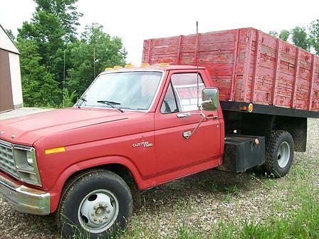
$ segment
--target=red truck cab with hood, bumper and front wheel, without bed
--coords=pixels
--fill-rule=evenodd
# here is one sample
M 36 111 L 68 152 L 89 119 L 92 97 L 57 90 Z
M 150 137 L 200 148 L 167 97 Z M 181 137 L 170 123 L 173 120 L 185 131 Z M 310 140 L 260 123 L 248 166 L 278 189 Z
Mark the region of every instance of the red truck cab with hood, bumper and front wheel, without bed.
M 22 212 L 57 211 L 65 235 L 120 230 L 136 191 L 221 165 L 224 119 L 208 75 L 108 68 L 74 107 L 1 121 L 0 195 Z

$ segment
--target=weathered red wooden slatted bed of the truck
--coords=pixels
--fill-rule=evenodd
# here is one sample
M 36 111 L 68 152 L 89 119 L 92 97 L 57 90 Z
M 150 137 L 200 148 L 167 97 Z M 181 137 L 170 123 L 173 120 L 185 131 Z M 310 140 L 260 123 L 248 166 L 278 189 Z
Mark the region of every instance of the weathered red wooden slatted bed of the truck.
M 225 102 L 319 111 L 318 56 L 254 28 L 144 41 L 143 63 L 202 65 Z M 317 114 L 316 114 L 317 115 Z

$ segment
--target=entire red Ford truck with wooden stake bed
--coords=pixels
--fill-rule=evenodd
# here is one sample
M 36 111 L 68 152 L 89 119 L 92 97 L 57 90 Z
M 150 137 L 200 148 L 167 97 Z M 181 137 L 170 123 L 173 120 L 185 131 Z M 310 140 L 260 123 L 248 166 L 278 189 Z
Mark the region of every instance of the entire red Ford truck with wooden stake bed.
M 141 67 L 107 68 L 74 107 L 0 121 L 0 196 L 25 213 L 56 212 L 67 237 L 99 238 L 125 227 L 147 188 L 215 167 L 286 175 L 293 152 L 305 151 L 307 117 L 319 117 L 315 56 L 291 50 L 287 100 L 280 83 L 289 75 L 279 76 L 288 43 L 253 28 L 205 34 L 198 48 L 196 35 L 147 40 Z M 271 63 L 251 64 L 254 55 L 270 59 L 267 51 Z M 230 63 L 223 54 L 233 54 Z M 275 90 L 263 77 L 271 67 Z

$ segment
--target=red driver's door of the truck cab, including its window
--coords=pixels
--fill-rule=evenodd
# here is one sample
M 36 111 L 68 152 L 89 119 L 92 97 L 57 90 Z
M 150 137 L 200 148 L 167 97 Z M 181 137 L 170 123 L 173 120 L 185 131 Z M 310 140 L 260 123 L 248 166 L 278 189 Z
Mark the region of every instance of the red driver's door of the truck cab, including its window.
M 196 71 L 173 70 L 167 78 L 155 112 L 157 176 L 163 176 L 162 181 L 218 165 L 221 134 L 217 111 L 203 111 L 208 119 L 204 119 L 189 139 L 185 137 L 202 119 L 201 115 L 181 114 L 199 113 L 197 92 L 201 99 L 205 87 L 202 75 L 204 70 L 199 70 L 199 90 Z

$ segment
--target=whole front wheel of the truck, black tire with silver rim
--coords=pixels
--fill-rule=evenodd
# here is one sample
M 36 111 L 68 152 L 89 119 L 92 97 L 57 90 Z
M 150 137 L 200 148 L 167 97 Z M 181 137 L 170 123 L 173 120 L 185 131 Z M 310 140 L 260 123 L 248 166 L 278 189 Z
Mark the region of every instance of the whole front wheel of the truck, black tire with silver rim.
M 125 228 L 132 214 L 132 194 L 111 171 L 81 174 L 63 191 L 58 223 L 66 238 L 109 238 Z

